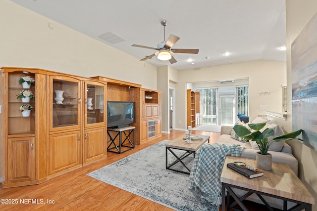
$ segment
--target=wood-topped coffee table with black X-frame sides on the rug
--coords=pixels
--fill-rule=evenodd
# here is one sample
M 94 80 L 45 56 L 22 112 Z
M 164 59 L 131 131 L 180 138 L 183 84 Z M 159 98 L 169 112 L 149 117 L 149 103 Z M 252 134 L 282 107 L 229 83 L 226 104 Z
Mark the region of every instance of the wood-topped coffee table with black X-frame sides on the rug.
M 184 138 L 185 135 L 182 135 L 180 137 L 178 137 L 175 140 L 171 140 L 170 142 L 165 144 L 165 157 L 166 157 L 166 169 L 169 170 L 174 170 L 174 171 L 178 171 L 178 172 L 182 172 L 182 173 L 190 173 L 190 169 L 189 167 L 187 167 L 184 162 L 182 161 L 184 158 L 187 158 L 190 155 L 194 155 L 194 159 L 196 156 L 196 151 L 204 144 L 206 143 L 206 141 L 209 142 L 210 136 L 208 135 L 195 135 L 195 136 L 200 136 L 203 138 L 203 140 L 201 141 L 193 141 L 193 143 L 189 144 L 187 143 Z M 184 153 L 181 156 L 177 156 L 175 154 L 175 152 L 173 151 L 173 149 L 176 150 L 183 150 Z M 174 162 L 172 162 L 171 164 L 168 164 L 167 161 L 167 153 L 170 152 L 175 158 L 176 160 Z M 179 169 L 171 169 L 172 166 L 174 166 L 177 163 L 181 163 L 188 171 L 183 171 L 183 170 L 179 170 Z

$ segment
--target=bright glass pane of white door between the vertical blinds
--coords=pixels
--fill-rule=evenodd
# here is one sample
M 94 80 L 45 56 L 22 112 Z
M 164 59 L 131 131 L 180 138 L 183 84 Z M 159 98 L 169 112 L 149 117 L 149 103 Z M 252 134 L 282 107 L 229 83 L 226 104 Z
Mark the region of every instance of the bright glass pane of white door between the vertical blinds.
M 234 95 L 219 95 L 219 118 L 220 125 L 233 126 L 235 123 L 235 96 Z

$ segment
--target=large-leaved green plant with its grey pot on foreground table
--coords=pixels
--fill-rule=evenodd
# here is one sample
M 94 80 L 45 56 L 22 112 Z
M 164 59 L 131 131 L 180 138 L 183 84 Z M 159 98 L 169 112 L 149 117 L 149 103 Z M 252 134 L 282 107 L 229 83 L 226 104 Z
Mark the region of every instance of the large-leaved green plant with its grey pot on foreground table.
M 265 123 L 249 124 L 248 126 L 255 131 L 250 131 L 247 127 L 244 127 L 242 125 L 235 125 L 233 127 L 233 130 L 239 137 L 244 138 L 245 140 L 256 141 L 260 149 L 260 152 L 256 154 L 257 167 L 260 169 L 264 169 L 264 170 L 271 169 L 272 156 L 271 154 L 267 153 L 267 151 L 269 146 L 274 141 L 280 142 L 280 141 L 287 141 L 291 139 L 298 139 L 298 140 L 304 141 L 301 138 L 297 138 L 297 136 L 303 132 L 302 129 L 299 129 L 297 131 L 290 132 L 284 135 L 280 135 L 280 136 L 272 138 L 271 140 L 268 140 L 268 137 L 271 137 L 274 135 L 274 130 L 271 128 L 265 128 L 264 131 L 261 132 L 260 130 L 265 126 Z

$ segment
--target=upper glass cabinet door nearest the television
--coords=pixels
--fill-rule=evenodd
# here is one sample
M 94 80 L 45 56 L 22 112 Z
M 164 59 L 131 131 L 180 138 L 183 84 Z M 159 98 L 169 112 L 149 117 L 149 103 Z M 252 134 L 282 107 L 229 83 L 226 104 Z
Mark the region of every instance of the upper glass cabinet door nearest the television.
M 85 83 L 85 123 L 87 125 L 100 123 L 105 124 L 105 85 L 97 82 Z

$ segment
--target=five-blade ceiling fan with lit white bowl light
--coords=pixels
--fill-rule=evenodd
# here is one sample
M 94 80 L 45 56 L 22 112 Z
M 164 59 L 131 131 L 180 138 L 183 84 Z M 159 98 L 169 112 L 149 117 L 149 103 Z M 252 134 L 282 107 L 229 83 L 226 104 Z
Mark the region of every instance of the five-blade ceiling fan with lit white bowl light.
M 154 54 L 147 56 L 147 57 L 141 59 L 140 61 L 144 61 L 144 60 L 152 58 L 153 56 L 157 56 L 159 60 L 163 60 L 163 61 L 168 60 L 171 64 L 174 64 L 175 62 L 177 62 L 176 59 L 173 57 L 174 53 L 194 53 L 194 54 L 198 53 L 199 49 L 171 48 L 179 40 L 179 37 L 177 37 L 175 35 L 170 35 L 169 38 L 167 39 L 167 41 L 165 41 L 165 26 L 167 24 L 167 21 L 163 20 L 160 22 L 160 24 L 164 26 L 164 41 L 160 42 L 156 48 L 155 47 L 148 47 L 148 46 L 144 46 L 144 45 L 138 45 L 138 44 L 132 45 L 134 47 L 143 47 L 143 48 L 158 50 Z

